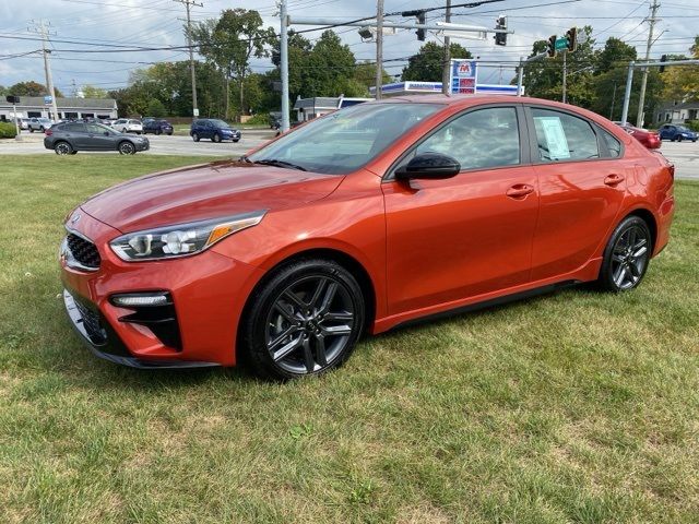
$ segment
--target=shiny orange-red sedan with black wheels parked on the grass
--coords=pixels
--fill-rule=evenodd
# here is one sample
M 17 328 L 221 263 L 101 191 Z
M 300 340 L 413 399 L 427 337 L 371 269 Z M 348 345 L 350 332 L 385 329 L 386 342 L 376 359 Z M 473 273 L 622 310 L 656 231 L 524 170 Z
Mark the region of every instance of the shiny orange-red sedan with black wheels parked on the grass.
M 673 180 L 568 105 L 362 104 L 87 200 L 66 222 L 64 301 L 115 362 L 315 374 L 367 331 L 581 282 L 632 289 L 668 241 Z

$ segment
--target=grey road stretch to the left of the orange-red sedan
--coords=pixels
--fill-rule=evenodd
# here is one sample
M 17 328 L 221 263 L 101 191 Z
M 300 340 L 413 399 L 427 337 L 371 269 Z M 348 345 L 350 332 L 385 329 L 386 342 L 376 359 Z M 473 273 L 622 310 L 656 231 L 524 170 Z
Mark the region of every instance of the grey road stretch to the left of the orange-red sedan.
M 194 142 L 189 136 L 167 136 L 149 134 L 151 142 L 150 151 L 137 153 L 138 155 L 186 155 L 186 156 L 240 156 L 247 151 L 274 138 L 273 132 L 268 130 L 249 130 L 242 131 L 242 139 L 237 144 L 232 142 L 221 142 L 215 144 L 210 140 Z M 44 134 L 22 133 L 22 141 L 2 140 L 0 141 L 0 155 L 34 155 L 34 154 L 55 154 L 52 150 L 44 147 Z M 94 155 L 115 155 L 115 153 L 85 153 L 79 154 Z

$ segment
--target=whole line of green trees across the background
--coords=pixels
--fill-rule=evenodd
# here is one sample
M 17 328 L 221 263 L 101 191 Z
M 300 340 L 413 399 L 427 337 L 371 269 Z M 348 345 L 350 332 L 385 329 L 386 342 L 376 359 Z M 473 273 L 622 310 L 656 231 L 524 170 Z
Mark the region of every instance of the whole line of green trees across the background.
M 637 60 L 636 49 L 623 40 L 609 37 L 601 49 L 595 48 L 592 27 L 579 31 L 584 43 L 578 45 L 567 59 L 567 98 L 570 104 L 618 120 L 629 60 Z M 280 109 L 280 41 L 271 27 L 264 27 L 254 10 L 228 9 L 217 19 L 197 22 L 189 36 L 201 60 L 194 62 L 200 115 L 237 119 L 242 115 L 266 114 Z M 546 49 L 547 40 L 535 41 L 530 56 Z M 451 44 L 451 56 L 472 58 L 459 44 Z M 689 55 L 671 55 L 668 60 L 699 58 L 699 36 Z M 443 46 L 429 41 L 412 56 L 403 68 L 401 80 L 440 82 Z M 269 60 L 252 71 L 252 62 Z M 350 46 L 328 29 L 315 41 L 300 33 L 289 32 L 289 96 L 369 96 L 375 82 L 375 64 L 357 61 Z M 514 67 L 514 64 L 512 66 Z M 396 75 L 398 78 L 398 75 Z M 383 81 L 393 80 L 386 70 Z M 512 83 L 516 79 L 512 80 Z M 638 94 L 641 75 L 633 80 Z M 526 94 L 534 97 L 560 99 L 562 93 L 562 55 L 529 62 L 524 67 Z M 22 82 L 3 92 L 40 96 L 46 90 L 37 82 Z M 190 116 L 192 114 L 189 61 L 161 62 L 132 71 L 128 87 L 109 91 L 84 86 L 85 97 L 116 98 L 120 115 L 125 116 Z M 61 96 L 57 91 L 57 96 Z M 668 68 L 661 73 L 651 68 L 645 94 L 645 120 L 662 100 L 698 100 L 699 68 Z M 629 115 L 637 112 L 638 96 L 631 98 Z

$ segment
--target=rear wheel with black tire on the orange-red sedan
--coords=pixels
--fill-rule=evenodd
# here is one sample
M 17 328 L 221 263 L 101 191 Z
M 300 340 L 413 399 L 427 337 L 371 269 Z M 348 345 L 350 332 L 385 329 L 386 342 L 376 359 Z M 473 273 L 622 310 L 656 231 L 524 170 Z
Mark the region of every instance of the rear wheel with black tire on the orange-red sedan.
M 645 221 L 627 216 L 616 226 L 600 269 L 599 286 L 607 291 L 628 291 L 638 286 L 651 259 L 652 236 Z

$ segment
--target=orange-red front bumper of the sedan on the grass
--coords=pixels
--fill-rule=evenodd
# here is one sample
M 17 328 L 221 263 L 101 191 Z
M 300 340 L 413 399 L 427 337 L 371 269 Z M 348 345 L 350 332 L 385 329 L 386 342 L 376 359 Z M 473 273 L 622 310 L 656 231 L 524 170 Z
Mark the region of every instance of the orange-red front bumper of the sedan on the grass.
M 98 269 L 85 271 L 70 266 L 69 258 L 62 255 L 61 281 L 71 323 L 93 353 L 139 368 L 236 364 L 238 319 L 262 270 L 212 250 L 167 261 L 123 262 L 108 247 L 121 231 L 82 209 L 72 217 L 78 215 L 71 229 L 79 229 L 95 245 L 102 261 Z M 130 322 L 138 311 L 111 300 L 114 295 L 150 291 L 171 297 L 179 344 L 168 343 L 147 323 Z M 92 333 L 85 331 L 88 325 Z

